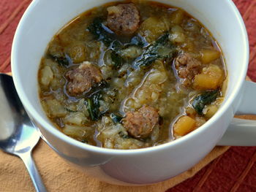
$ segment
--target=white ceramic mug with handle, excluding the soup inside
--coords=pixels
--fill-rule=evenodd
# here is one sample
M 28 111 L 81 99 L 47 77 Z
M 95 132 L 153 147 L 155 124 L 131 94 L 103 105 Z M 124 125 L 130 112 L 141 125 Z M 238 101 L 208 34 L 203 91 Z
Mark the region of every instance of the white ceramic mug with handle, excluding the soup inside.
M 159 0 L 181 7 L 200 20 L 217 39 L 225 55 L 228 71 L 225 101 L 203 126 L 173 142 L 138 150 L 110 150 L 86 145 L 56 129 L 42 111 L 39 101 L 37 70 L 40 59 L 50 39 L 69 20 L 108 1 L 34 0 L 18 25 L 12 46 L 15 87 L 42 138 L 56 153 L 108 183 L 146 185 L 186 171 L 218 142 L 222 145 L 256 145 L 256 123 L 253 121 L 233 121 L 233 127 L 225 134 L 236 112 L 256 112 L 256 85 L 244 80 L 249 58 L 246 29 L 231 0 Z

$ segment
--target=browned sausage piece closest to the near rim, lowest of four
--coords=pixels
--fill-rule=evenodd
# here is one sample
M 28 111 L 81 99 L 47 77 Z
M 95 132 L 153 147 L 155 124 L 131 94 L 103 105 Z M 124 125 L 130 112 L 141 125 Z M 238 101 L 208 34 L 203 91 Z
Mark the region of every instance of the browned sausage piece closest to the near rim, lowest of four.
M 151 134 L 159 122 L 159 115 L 154 107 L 143 106 L 135 112 L 127 112 L 123 120 L 124 127 L 132 137 L 145 138 Z

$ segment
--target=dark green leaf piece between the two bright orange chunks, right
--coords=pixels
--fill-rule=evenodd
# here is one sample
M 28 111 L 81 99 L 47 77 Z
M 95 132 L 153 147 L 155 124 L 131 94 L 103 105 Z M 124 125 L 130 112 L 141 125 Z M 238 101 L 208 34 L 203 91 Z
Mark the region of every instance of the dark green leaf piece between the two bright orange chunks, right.
M 195 97 L 192 102 L 192 106 L 199 115 L 203 115 L 203 108 L 206 106 L 206 104 L 211 104 L 212 101 L 215 101 L 218 94 L 218 90 L 206 91 Z

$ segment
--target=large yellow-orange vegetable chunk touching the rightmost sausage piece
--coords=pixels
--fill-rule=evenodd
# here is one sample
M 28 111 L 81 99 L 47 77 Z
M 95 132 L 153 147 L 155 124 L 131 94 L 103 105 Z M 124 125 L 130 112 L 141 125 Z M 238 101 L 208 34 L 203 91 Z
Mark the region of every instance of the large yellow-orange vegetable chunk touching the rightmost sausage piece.
M 214 90 L 222 85 L 224 72 L 217 65 L 209 65 L 203 68 L 201 74 L 195 75 L 193 88 L 196 90 Z

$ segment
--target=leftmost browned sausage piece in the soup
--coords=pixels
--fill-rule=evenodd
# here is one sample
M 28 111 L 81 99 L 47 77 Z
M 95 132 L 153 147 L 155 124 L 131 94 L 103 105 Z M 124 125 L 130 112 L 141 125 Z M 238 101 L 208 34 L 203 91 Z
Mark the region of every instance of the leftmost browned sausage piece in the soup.
M 90 91 L 91 87 L 102 80 L 102 74 L 97 66 L 85 61 L 75 69 L 66 73 L 67 91 L 71 96 Z

